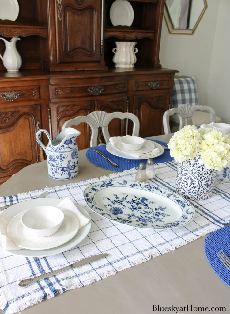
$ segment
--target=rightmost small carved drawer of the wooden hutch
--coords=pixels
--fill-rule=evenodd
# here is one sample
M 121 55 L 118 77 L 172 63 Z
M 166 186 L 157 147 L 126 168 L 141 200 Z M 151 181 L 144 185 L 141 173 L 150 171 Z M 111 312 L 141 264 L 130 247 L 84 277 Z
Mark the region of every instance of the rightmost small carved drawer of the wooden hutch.
M 169 88 L 171 88 L 170 80 L 162 77 L 137 78 L 134 85 L 135 91 Z

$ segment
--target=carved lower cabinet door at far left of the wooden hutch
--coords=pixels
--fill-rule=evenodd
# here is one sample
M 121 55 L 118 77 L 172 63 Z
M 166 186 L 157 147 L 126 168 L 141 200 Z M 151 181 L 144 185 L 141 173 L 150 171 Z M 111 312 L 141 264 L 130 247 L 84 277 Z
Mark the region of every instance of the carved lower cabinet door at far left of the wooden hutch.
M 4 106 L 0 109 L 0 182 L 23 167 L 39 161 L 35 140 L 41 128 L 40 104 Z

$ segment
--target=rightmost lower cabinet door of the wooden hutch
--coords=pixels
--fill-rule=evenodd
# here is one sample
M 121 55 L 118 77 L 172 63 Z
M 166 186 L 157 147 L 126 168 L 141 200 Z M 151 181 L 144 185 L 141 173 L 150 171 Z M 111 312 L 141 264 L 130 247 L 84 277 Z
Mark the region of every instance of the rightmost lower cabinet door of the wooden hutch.
M 163 134 L 163 114 L 168 109 L 170 92 L 135 95 L 133 113 L 140 120 L 140 136 Z

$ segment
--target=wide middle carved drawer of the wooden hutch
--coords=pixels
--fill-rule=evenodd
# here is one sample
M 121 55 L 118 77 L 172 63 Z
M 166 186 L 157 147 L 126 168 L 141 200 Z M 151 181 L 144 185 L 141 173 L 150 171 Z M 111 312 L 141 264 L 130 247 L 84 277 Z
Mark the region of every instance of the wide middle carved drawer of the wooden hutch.
M 127 81 L 118 82 L 98 82 L 76 85 L 51 86 L 51 98 L 99 96 L 108 94 L 117 94 L 127 91 Z

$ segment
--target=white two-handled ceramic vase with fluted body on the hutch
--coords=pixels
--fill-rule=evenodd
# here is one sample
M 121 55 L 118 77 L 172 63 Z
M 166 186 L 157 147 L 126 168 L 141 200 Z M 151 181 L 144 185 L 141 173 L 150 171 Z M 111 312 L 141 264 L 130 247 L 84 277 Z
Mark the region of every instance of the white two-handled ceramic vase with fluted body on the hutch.
M 136 62 L 136 42 L 115 41 L 113 62 L 116 68 L 134 68 Z

